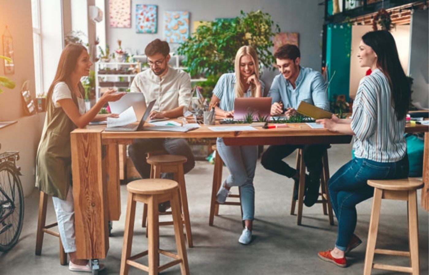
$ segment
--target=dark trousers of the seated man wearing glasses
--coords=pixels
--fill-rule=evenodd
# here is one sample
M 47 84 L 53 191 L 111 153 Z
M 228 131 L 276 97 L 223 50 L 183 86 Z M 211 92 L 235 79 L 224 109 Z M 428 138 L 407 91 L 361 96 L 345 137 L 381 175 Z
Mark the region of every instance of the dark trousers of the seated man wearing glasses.
M 146 162 L 146 153 L 157 150 L 186 157 L 187 162 L 183 164 L 185 174 L 195 166 L 195 160 L 186 139 L 134 139 L 128 147 L 128 154 L 142 178 L 149 178 L 151 175 L 151 165 Z

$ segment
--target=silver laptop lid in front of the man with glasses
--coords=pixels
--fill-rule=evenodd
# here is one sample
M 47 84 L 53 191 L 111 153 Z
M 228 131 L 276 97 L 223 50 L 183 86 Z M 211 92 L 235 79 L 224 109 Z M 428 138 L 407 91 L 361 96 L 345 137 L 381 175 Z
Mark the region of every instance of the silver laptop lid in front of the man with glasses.
M 112 114 L 120 114 L 130 108 L 130 106 L 133 106 L 136 118 L 141 118 L 146 111 L 145 95 L 143 95 L 143 93 L 129 92 L 118 101 L 109 102 L 110 112 L 112 112 Z

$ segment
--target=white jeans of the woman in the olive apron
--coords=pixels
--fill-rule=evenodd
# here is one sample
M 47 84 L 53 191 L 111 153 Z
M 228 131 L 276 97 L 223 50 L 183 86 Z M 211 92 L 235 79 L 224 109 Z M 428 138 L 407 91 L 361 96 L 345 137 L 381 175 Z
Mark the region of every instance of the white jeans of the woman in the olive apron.
M 73 187 L 70 186 L 65 201 L 52 197 L 55 213 L 57 214 L 58 231 L 66 253 L 76 251 L 75 207 L 72 189 Z

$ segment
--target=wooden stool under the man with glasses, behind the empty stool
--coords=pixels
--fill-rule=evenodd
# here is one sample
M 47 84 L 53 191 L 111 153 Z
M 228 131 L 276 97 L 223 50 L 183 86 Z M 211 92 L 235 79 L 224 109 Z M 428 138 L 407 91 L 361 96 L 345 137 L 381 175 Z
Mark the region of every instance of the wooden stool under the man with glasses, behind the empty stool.
M 160 178 L 161 173 L 173 173 L 174 180 L 179 184 L 179 203 L 183 213 L 183 223 L 186 228 L 186 239 L 188 247 L 192 247 L 192 231 L 190 229 L 189 210 L 186 195 L 185 177 L 183 173 L 183 163 L 187 162 L 187 158 L 179 155 L 156 155 L 146 158 L 147 162 L 151 164 L 151 178 Z M 143 219 L 142 227 L 146 226 L 148 209 L 146 205 L 143 206 Z M 161 215 L 171 214 L 171 211 L 162 213 Z M 173 222 L 160 222 L 159 225 L 172 225 Z M 148 236 L 148 230 L 146 230 Z

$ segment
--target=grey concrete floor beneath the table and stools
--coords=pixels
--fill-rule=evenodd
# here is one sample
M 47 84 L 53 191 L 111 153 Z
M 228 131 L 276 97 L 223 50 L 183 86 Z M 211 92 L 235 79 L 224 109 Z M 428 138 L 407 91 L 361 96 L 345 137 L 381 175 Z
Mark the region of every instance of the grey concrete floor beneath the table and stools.
M 350 159 L 351 145 L 334 145 L 329 149 L 329 168 L 333 174 Z M 295 163 L 296 154 L 286 159 Z M 363 244 L 350 252 L 346 269 L 321 261 L 317 251 L 332 248 L 337 232 L 335 225 L 329 225 L 323 216 L 321 205 L 304 207 L 302 226 L 296 225 L 296 216 L 290 216 L 292 180 L 266 171 L 260 163 L 254 180 L 256 205 L 254 240 L 250 245 L 238 242 L 242 231 L 240 210 L 236 206 L 221 206 L 215 226 L 208 226 L 211 178 L 213 166 L 199 161 L 186 175 L 190 219 L 193 233 L 193 248 L 187 249 L 190 272 L 192 274 L 362 274 L 368 234 L 372 199 L 357 207 L 358 222 L 356 235 Z M 228 174 L 224 169 L 224 177 Z M 234 191 L 233 191 L 234 192 Z M 235 191 L 237 192 L 237 191 Z M 113 222 L 113 237 L 110 237 L 109 254 L 103 263 L 106 271 L 100 274 L 118 274 L 121 261 L 124 220 L 126 211 L 126 186 L 121 186 L 122 215 L 120 221 Z M 420 207 L 419 198 L 419 253 L 420 272 L 428 274 L 428 213 Z M 67 266 L 60 266 L 58 239 L 45 235 L 42 255 L 36 256 L 37 211 L 39 193 L 36 190 L 25 199 L 24 228 L 18 244 L 8 253 L 0 254 L 0 274 L 70 274 Z M 48 203 L 47 222 L 55 220 L 52 202 Z M 405 202 L 382 202 L 378 247 L 408 249 L 407 207 Z M 137 212 L 142 213 L 142 205 L 137 204 Z M 164 218 L 164 217 L 163 217 Z M 136 215 L 133 254 L 146 249 L 145 228 L 141 228 L 142 217 Z M 160 229 L 160 247 L 175 251 L 172 227 Z M 161 264 L 168 258 L 161 256 Z M 147 263 L 147 258 L 141 260 Z M 387 264 L 407 266 L 405 257 L 378 255 L 375 260 Z M 179 274 L 178 266 L 167 269 L 162 274 Z M 145 274 L 130 267 L 130 274 Z M 375 270 L 372 274 L 393 274 Z

